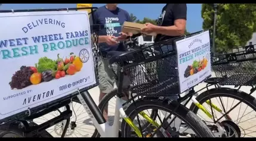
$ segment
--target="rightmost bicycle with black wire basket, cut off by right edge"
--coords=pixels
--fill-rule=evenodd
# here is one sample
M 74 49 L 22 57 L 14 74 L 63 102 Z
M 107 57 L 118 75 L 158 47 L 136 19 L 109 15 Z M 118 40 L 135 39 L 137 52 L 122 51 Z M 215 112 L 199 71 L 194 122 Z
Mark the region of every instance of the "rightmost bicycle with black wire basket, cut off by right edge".
M 221 113 L 219 114 L 219 118 L 213 117 L 212 121 L 217 123 L 221 118 L 225 118 L 226 120 L 223 121 L 224 128 L 226 130 L 233 130 L 233 134 L 229 134 L 230 137 L 255 136 L 253 129 L 255 125 L 253 125 L 254 121 L 252 118 L 254 116 L 251 113 L 256 110 L 256 104 L 254 102 L 255 98 L 251 96 L 256 90 L 256 69 L 254 67 L 256 51 L 254 46 L 255 45 L 243 46 L 241 48 L 237 48 L 236 52 L 233 52 L 232 50 L 230 53 L 225 52 L 212 57 L 212 70 L 214 70 L 216 77 L 207 80 L 206 83 L 213 84 L 215 88 L 210 89 L 208 92 L 203 92 L 196 98 L 200 104 L 211 104 L 209 103 L 209 99 L 215 99 L 215 101 L 220 104 L 220 108 L 215 105 L 210 107 L 212 115 L 214 112 L 213 110 Z M 221 86 L 235 86 L 237 88 Z M 245 93 L 240 90 L 242 86 L 250 86 L 251 89 L 248 93 Z M 227 98 L 227 103 L 230 102 L 230 104 L 224 104 L 224 98 L 221 97 Z M 233 98 L 234 101 L 230 101 L 229 98 Z M 235 102 L 235 100 L 237 102 Z M 246 107 L 243 107 L 242 104 L 245 104 Z M 239 108 L 239 113 L 231 113 L 236 107 Z M 195 104 L 192 104 L 190 109 L 195 113 L 198 112 L 198 108 Z M 244 111 L 240 114 L 241 109 L 244 109 Z M 238 115 L 238 118 L 231 118 L 230 116 L 232 114 Z M 241 117 L 239 117 L 239 115 Z M 242 120 L 243 117 L 248 118 L 246 120 Z M 248 120 L 252 121 L 250 122 Z M 248 121 L 249 124 L 245 124 L 245 121 Z

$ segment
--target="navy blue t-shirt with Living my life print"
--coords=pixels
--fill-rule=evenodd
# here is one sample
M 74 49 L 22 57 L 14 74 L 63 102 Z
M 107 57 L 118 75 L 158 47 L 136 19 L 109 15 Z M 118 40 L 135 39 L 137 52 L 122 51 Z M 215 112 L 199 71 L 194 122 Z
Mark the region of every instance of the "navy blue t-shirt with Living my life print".
M 101 30 L 99 35 L 110 35 L 110 36 L 120 36 L 118 33 L 122 32 L 122 24 L 125 21 L 131 22 L 131 17 L 128 12 L 122 10 L 121 8 L 116 8 L 116 10 L 110 11 L 105 6 L 99 7 L 96 12 L 94 12 L 94 24 L 100 24 Z M 100 51 L 106 54 L 108 51 L 116 51 L 124 49 L 124 44 L 121 42 L 119 45 L 109 46 L 107 43 L 100 43 Z

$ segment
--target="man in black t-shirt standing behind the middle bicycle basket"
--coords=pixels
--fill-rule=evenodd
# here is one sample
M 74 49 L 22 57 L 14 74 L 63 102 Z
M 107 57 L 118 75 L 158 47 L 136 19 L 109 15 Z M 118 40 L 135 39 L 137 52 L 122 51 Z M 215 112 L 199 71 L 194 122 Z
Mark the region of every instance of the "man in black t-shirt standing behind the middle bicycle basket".
M 187 5 L 186 4 L 166 4 L 162 9 L 162 14 L 158 18 L 157 26 L 146 23 L 145 27 L 141 29 L 141 32 L 149 34 L 156 33 L 155 42 L 160 42 L 162 40 L 171 39 L 173 37 L 182 36 L 186 30 L 186 20 L 187 20 Z M 160 50 L 160 48 L 155 48 Z M 172 51 L 172 45 L 165 45 L 161 47 L 163 52 Z M 164 82 L 166 77 L 171 77 L 176 75 L 177 70 L 172 67 L 171 64 L 175 63 L 175 56 L 163 59 L 161 66 L 162 69 L 158 69 L 158 77 L 160 82 Z M 173 62 L 173 63 L 172 63 Z M 169 78 L 168 78 L 169 79 Z M 174 92 L 174 90 L 168 90 L 168 92 Z M 178 91 L 175 90 L 178 93 Z M 171 96 L 172 99 L 177 100 L 178 96 Z

